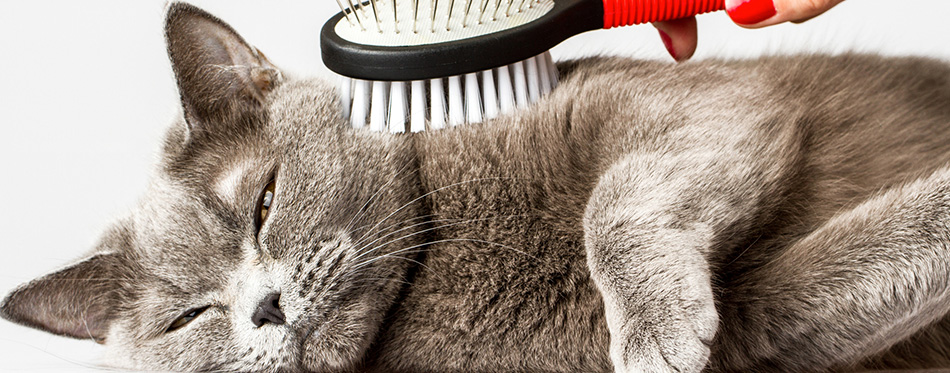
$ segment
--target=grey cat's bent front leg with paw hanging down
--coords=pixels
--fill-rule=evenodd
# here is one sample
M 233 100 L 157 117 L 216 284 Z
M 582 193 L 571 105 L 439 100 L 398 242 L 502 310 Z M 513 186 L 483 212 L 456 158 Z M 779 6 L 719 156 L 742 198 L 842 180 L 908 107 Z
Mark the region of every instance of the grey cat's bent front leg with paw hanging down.
M 774 184 L 763 167 L 777 162 L 761 159 L 734 148 L 630 154 L 600 178 L 584 244 L 617 372 L 705 367 L 718 327 L 709 256 Z

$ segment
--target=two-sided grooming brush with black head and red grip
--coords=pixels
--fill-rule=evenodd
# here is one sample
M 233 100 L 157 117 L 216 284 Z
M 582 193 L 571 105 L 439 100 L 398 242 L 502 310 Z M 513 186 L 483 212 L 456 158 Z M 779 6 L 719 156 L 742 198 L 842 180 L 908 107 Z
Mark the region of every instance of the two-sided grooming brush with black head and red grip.
M 356 128 L 412 132 L 491 119 L 557 85 L 547 52 L 595 29 L 722 10 L 725 0 L 336 0 L 320 34 Z M 341 2 L 342 1 L 342 2 Z M 408 128 L 407 128 L 408 127 Z

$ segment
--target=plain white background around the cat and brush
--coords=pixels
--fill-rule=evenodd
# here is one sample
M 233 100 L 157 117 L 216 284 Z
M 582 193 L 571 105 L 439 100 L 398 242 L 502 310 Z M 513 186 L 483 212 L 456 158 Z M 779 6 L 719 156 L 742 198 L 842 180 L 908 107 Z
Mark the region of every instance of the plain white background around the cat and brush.
M 194 1 L 270 60 L 324 75 L 319 29 L 336 5 Z M 72 260 L 145 189 L 177 93 L 162 39 L 164 2 L 0 2 L 0 294 Z M 694 60 L 798 51 L 915 54 L 950 60 L 950 1 L 852 0 L 801 25 L 744 30 L 700 17 Z M 623 54 L 668 60 L 638 26 L 577 36 L 555 59 Z M 101 347 L 0 321 L 0 370 L 92 369 Z

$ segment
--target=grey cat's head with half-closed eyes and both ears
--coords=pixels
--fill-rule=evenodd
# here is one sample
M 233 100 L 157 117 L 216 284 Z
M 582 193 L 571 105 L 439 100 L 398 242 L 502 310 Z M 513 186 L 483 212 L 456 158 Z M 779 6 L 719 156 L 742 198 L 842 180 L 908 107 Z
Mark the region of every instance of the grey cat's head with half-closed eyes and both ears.
M 418 251 L 410 142 L 347 130 L 330 85 L 197 8 L 172 4 L 165 34 L 183 115 L 140 205 L 0 314 L 126 367 L 352 367 Z

